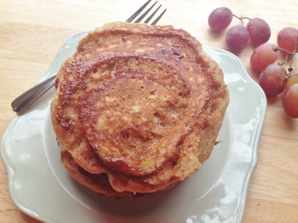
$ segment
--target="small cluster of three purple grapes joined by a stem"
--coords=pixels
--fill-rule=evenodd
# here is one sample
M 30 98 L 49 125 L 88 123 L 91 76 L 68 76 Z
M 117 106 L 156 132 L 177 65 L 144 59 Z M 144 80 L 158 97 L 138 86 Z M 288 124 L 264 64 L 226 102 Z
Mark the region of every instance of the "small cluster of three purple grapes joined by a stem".
M 216 33 L 222 32 L 231 23 L 233 16 L 240 19 L 242 24 L 231 27 L 225 34 L 225 42 L 231 51 L 241 51 L 249 39 L 254 46 L 269 40 L 271 30 L 267 22 L 261 18 L 238 17 L 227 7 L 220 7 L 211 12 L 208 18 L 209 26 Z M 243 19 L 249 20 L 246 27 L 243 25 Z

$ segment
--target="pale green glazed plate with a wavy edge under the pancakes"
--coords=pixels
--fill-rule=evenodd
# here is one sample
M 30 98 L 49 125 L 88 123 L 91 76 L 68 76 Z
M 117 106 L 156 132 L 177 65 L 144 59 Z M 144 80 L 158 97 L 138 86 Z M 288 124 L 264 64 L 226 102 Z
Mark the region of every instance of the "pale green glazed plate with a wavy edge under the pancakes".
M 57 72 L 81 38 L 66 41 L 40 80 Z M 51 89 L 28 112 L 16 116 L 1 141 L 11 198 L 26 214 L 58 223 L 241 222 L 266 112 L 266 97 L 240 60 L 204 47 L 224 70 L 230 103 L 212 155 L 172 189 L 140 198 L 114 199 L 77 183 L 60 164 L 50 119 Z

